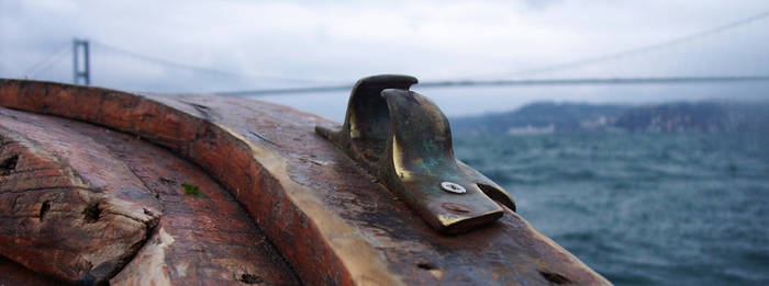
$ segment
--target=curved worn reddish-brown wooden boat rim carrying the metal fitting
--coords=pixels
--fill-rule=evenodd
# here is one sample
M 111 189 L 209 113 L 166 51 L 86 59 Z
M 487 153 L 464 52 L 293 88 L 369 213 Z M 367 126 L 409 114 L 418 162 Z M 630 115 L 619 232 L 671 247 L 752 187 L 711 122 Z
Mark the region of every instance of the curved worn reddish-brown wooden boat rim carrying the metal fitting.
M 333 122 L 289 107 L 9 80 L 0 105 L 107 125 L 199 164 L 308 284 L 609 284 L 510 210 L 469 233 L 436 233 L 314 133 Z

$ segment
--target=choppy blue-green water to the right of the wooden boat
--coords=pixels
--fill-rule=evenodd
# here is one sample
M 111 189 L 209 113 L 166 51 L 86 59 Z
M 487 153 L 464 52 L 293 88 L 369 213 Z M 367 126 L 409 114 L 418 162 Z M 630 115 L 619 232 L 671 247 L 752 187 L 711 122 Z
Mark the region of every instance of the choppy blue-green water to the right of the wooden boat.
M 769 135 L 460 136 L 455 151 L 617 285 L 769 285 Z

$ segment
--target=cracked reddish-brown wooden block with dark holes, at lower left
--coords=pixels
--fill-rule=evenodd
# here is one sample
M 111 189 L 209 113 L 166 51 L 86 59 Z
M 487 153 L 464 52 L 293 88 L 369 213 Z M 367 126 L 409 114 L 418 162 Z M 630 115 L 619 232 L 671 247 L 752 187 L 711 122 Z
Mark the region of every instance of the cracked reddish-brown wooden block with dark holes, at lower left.
M 103 147 L 5 114 L 0 140 L 0 255 L 66 282 L 102 283 L 157 224 L 159 202 Z

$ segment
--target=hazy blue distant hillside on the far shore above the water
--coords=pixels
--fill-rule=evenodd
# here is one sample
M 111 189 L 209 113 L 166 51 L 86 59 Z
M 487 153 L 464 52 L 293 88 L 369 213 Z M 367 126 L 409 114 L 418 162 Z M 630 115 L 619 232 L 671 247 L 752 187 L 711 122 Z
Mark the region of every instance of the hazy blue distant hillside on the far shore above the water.
M 769 131 L 769 103 L 675 102 L 628 106 L 538 102 L 452 119 L 458 134 L 573 131 Z

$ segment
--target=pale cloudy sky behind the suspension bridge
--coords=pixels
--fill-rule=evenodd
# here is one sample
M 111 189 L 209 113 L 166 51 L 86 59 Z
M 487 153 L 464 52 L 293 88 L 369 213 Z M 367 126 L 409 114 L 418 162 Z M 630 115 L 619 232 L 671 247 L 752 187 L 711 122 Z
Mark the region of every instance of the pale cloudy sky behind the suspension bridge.
M 14 1 L 0 0 L 0 77 L 73 81 L 73 38 L 91 83 L 216 92 L 423 81 L 769 75 L 769 18 L 612 60 L 533 72 L 665 43 L 769 11 L 767 1 Z M 185 67 L 179 67 L 185 66 Z M 449 116 L 534 101 L 769 99 L 769 83 L 414 88 Z M 341 121 L 348 92 L 267 96 Z

